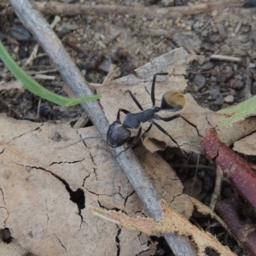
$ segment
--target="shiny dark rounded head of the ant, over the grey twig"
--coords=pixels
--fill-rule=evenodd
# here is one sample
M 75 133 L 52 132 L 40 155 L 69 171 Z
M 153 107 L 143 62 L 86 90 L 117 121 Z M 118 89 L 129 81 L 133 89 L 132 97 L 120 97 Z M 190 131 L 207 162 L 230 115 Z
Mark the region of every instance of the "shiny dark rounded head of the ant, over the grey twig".
M 115 120 L 108 128 L 107 143 L 112 148 L 124 145 L 128 142 L 130 137 L 131 131 L 122 125 L 119 120 Z

